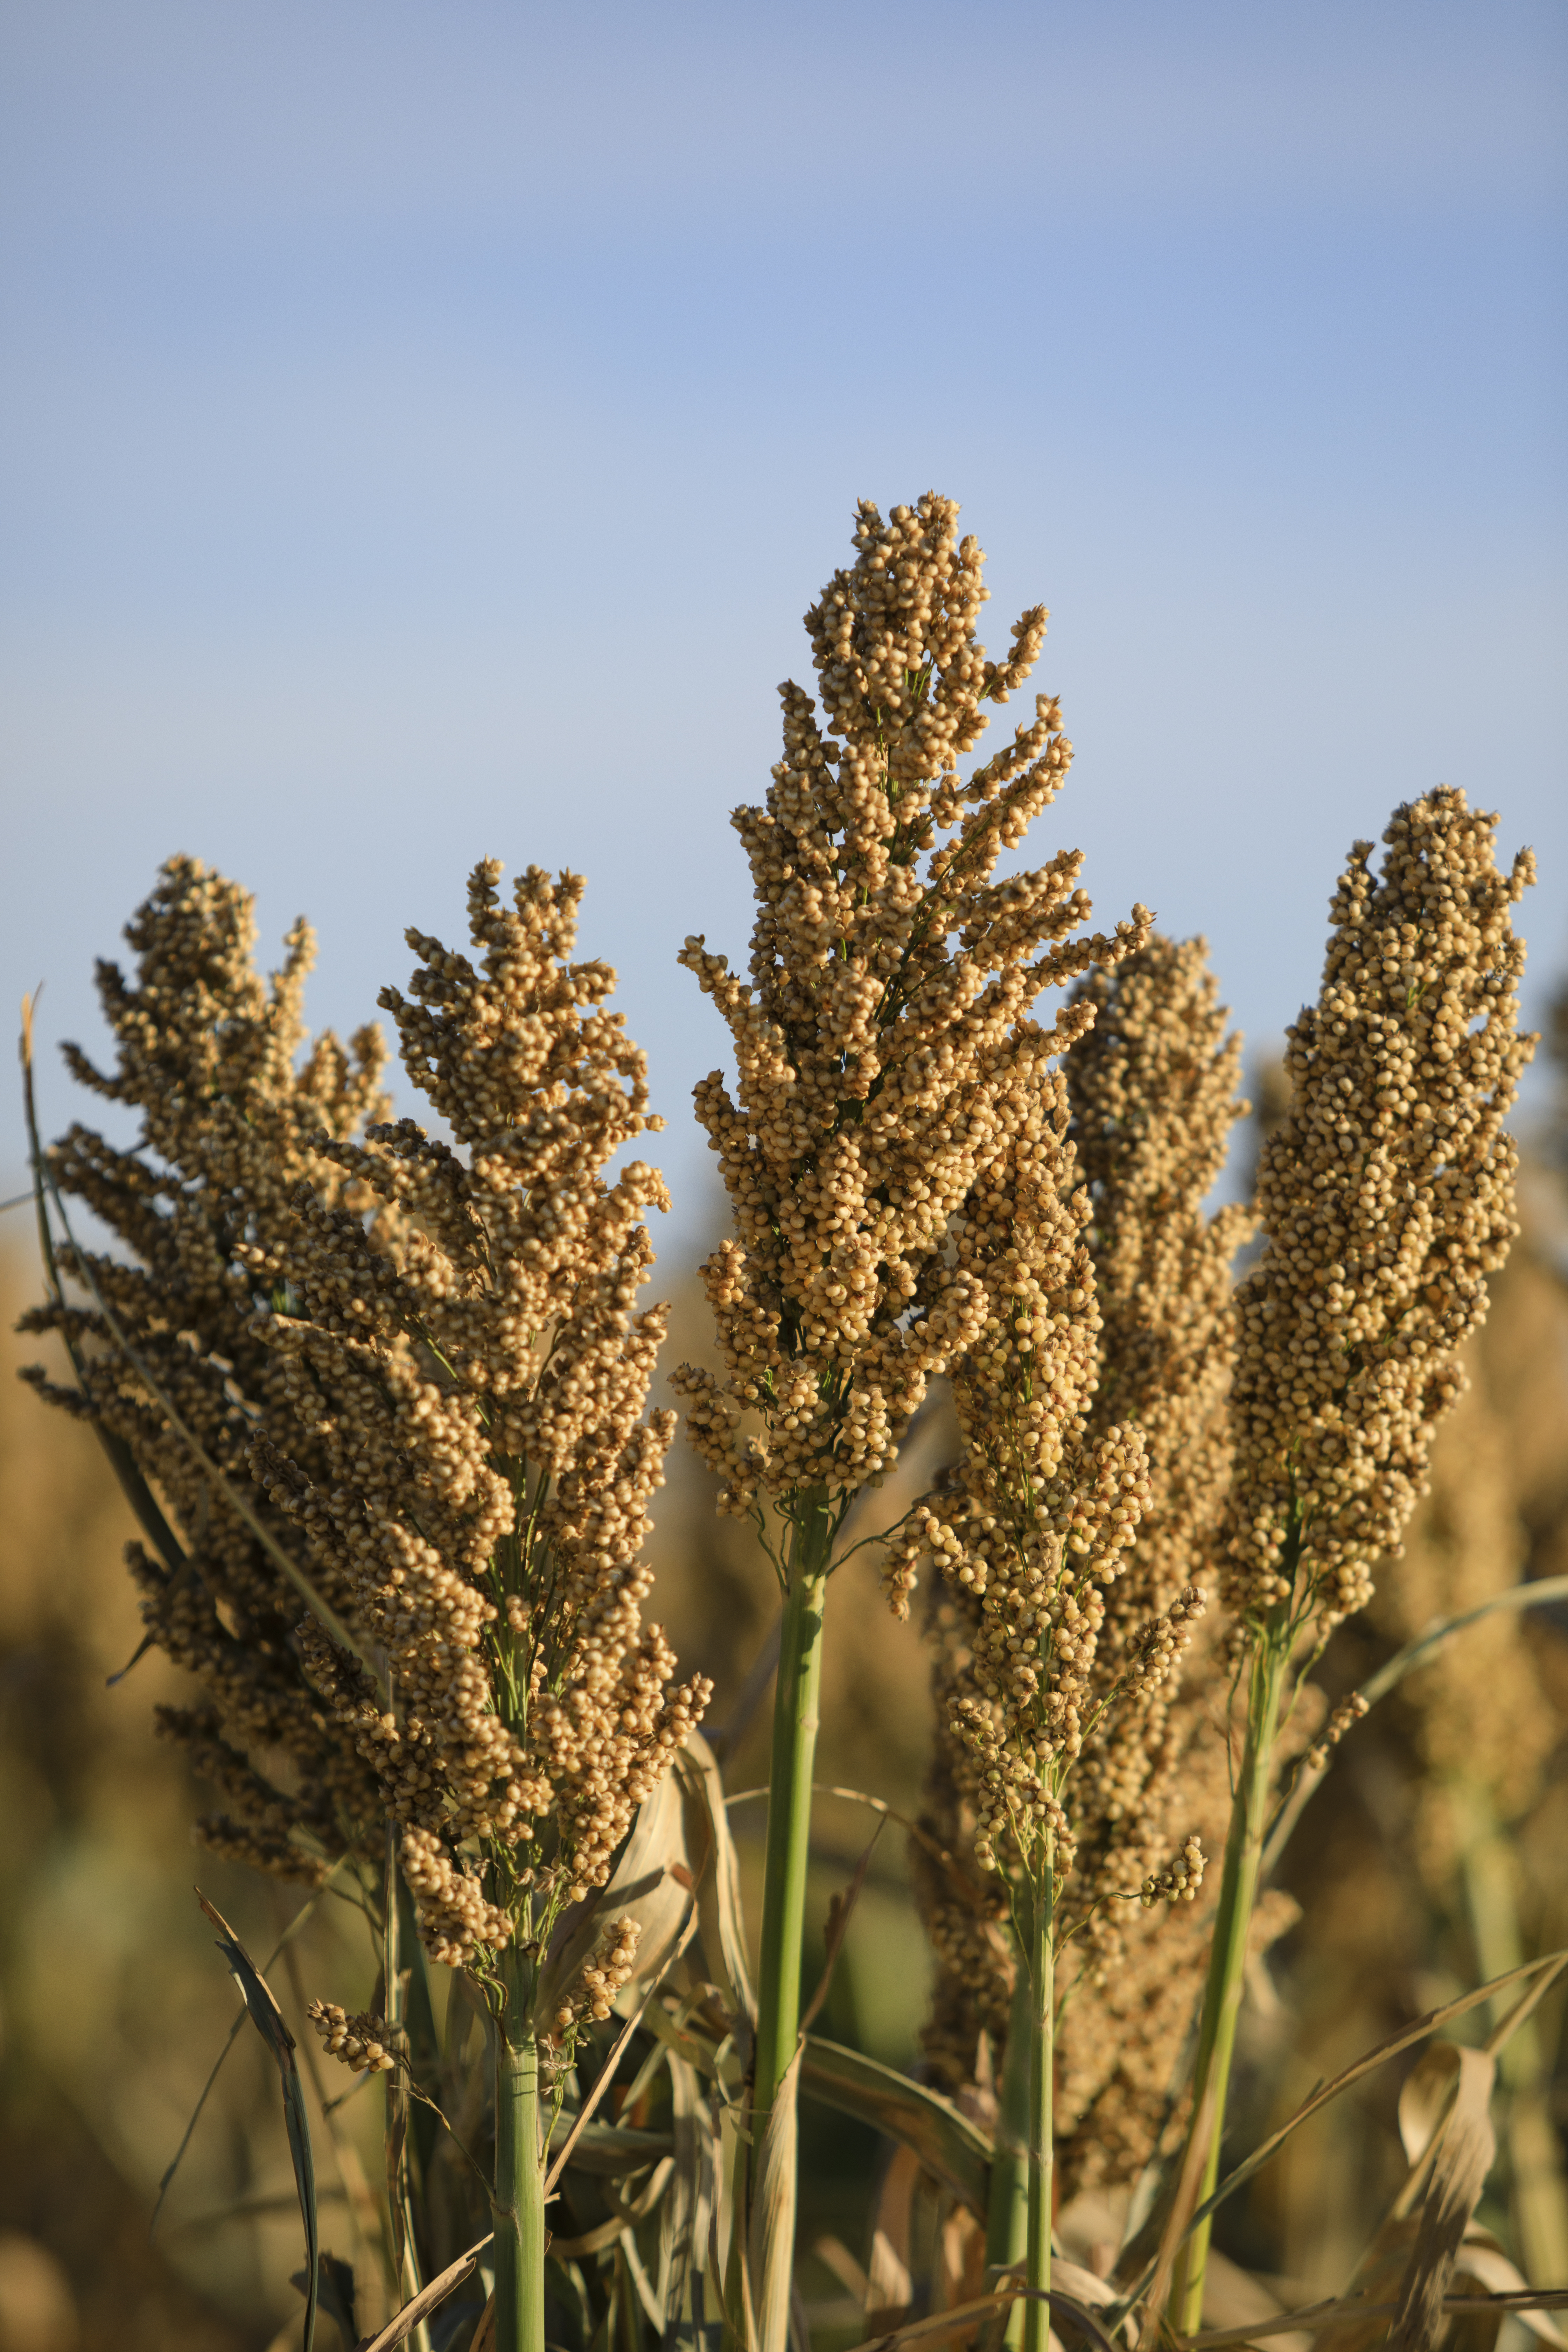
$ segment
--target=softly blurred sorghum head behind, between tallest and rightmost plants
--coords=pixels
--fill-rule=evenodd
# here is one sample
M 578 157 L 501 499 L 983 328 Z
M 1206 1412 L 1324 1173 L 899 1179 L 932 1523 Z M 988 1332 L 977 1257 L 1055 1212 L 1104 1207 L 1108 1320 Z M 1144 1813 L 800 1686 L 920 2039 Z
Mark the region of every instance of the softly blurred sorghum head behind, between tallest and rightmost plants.
M 976 1489 L 973 1545 L 980 1555 L 997 1545 L 1016 1550 L 1027 1597 L 1011 1590 L 1009 1576 L 978 1566 L 969 1543 L 950 1545 L 943 1498 L 929 1505 L 947 1578 L 929 1599 L 936 1748 L 924 1828 L 952 1849 L 980 1837 L 994 1889 L 990 1900 L 985 1893 L 976 1900 L 952 1872 L 917 1865 L 938 1955 L 929 2046 L 957 2089 L 973 2077 L 978 2034 L 987 2032 L 990 2063 L 1001 2074 L 992 2260 L 1025 2251 L 1027 2053 L 1034 2027 L 1046 2039 L 1053 2030 L 1051 2018 L 1032 2016 L 1030 1971 L 1004 1933 L 1009 1917 L 1027 1917 L 1023 1889 L 1013 1886 L 1025 1860 L 1013 1832 L 1001 1839 L 1004 1867 L 994 1867 L 999 1849 L 985 1823 L 994 1813 L 987 1773 L 997 1764 L 973 1752 L 976 1710 L 994 1726 L 1009 1715 L 999 1658 L 1018 1656 L 1023 1672 L 1060 1703 L 1060 1733 L 1032 1733 L 1032 1769 L 1044 1769 L 1056 1804 L 1065 1806 L 1053 1853 L 1051 1957 L 1070 1957 L 1072 2002 L 1056 2025 L 1056 2063 L 1067 2103 L 1058 2161 L 1072 2185 L 1131 2178 L 1152 2152 L 1171 2044 L 1201 1976 L 1206 1931 L 1190 1910 L 1150 1933 L 1154 1922 L 1133 1926 L 1126 1898 L 1140 1896 L 1145 1910 L 1159 1896 L 1192 1903 L 1201 1884 L 1194 1830 L 1222 1837 L 1229 1795 L 1211 1724 L 1215 1670 L 1213 1644 L 1204 1646 L 1211 1621 L 1201 1578 L 1213 1573 L 1229 1472 L 1229 1258 L 1246 1235 L 1246 1214 L 1220 1209 L 1211 1218 L 1204 1202 L 1244 1110 L 1234 1094 L 1239 1044 L 1225 1035 L 1201 941 L 1178 946 L 1157 936 L 1114 971 L 1091 974 L 1079 1000 L 1095 1021 L 1065 1056 L 1056 1122 L 1065 1115 L 1067 1131 L 1051 1145 L 1044 1178 L 1027 1197 L 973 1204 L 976 1218 L 990 1209 L 980 1247 L 992 1258 L 1018 1249 L 1011 1263 L 1020 1275 L 1041 1218 L 1051 1221 L 1063 1279 L 1044 1298 L 1027 1279 L 1004 1282 L 1011 1327 L 999 1322 L 987 1331 L 980 1362 L 957 1374 L 966 1435 L 957 1482 Z M 1053 1350 L 1070 1334 L 1067 1385 Z M 1001 1381 L 997 1352 L 1009 1359 Z M 1020 1486 L 1013 1526 L 1001 1534 L 1006 1522 L 994 1501 L 1013 1496 L 1016 1465 L 1027 1458 L 1013 1423 L 1032 1421 L 1030 1437 L 1051 1423 L 1060 1444 L 1053 1411 L 1067 1402 L 1079 1461 L 1086 1444 L 1114 1444 L 1121 1430 L 1138 1430 L 1145 1446 L 1138 1519 L 1119 1522 L 1135 1545 L 1131 1552 L 1117 1545 L 1088 1573 L 1070 1517 L 1063 1543 L 1063 1531 L 1048 1515 L 1034 1515 Z M 922 1517 L 910 1543 L 919 1541 Z M 994 1531 L 985 1529 L 987 1517 L 997 1517 Z M 1199 1646 L 1187 1649 L 1194 1635 Z M 1023 1745 L 1018 1733 L 1013 1740 Z M 1011 1769 L 1018 1764 L 1016 1755 Z

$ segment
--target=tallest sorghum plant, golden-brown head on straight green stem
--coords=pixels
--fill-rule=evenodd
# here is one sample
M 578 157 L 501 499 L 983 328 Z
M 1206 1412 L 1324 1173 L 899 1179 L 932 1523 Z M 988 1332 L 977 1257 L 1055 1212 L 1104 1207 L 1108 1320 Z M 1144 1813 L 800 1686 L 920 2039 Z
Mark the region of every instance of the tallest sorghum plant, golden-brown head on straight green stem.
M 755 2098 L 771 2110 L 795 2051 L 820 1609 L 851 1496 L 882 1479 L 933 1374 L 987 1315 L 950 1228 L 1009 1148 L 1020 1094 L 1088 1025 L 1032 1018 L 1044 988 L 1114 962 L 1147 915 L 1070 938 L 1088 915 L 1081 856 L 997 877 L 1067 771 L 1048 696 L 959 776 L 985 703 L 1030 675 L 1046 614 L 992 661 L 976 637 L 980 548 L 936 494 L 882 520 L 860 503 L 856 562 L 806 614 L 818 706 L 785 684 L 785 757 L 738 809 L 757 924 L 750 978 L 701 938 L 682 962 L 724 1014 L 736 1096 L 696 1091 L 733 1214 L 703 1275 L 724 1378 L 684 1367 L 693 1444 L 719 1508 L 785 1529 Z M 792 2218 L 792 2216 L 790 2216 Z M 766 2340 L 766 2328 L 764 2328 Z

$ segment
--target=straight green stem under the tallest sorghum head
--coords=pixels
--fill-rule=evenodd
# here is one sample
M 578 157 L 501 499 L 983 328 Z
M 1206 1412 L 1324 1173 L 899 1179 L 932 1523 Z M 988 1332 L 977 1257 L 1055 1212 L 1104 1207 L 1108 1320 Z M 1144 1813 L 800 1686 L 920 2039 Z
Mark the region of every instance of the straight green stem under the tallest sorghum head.
M 766 2136 L 795 2046 L 799 2042 L 799 1955 L 806 1919 L 806 1860 L 811 1842 L 811 1766 L 816 1759 L 823 1684 L 823 1604 L 832 1512 L 827 1491 L 802 1498 L 790 1534 L 785 1595 L 773 1686 L 773 1764 L 769 1773 L 769 1837 L 762 1884 L 762 1950 L 757 1957 L 757 2067 L 752 2084 L 752 2166 Z M 797 2183 L 790 2178 L 780 2230 L 795 2237 Z

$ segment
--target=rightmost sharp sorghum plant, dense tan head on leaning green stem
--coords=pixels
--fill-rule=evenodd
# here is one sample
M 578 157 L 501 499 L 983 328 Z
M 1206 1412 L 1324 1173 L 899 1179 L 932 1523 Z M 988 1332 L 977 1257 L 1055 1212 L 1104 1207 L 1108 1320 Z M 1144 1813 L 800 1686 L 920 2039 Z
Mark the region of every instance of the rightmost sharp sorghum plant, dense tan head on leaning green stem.
M 1495 828 L 1443 786 L 1394 814 L 1378 877 L 1373 844 L 1354 844 L 1319 1000 L 1288 1033 L 1291 1101 L 1260 1157 L 1265 1247 L 1237 1294 L 1225 1522 L 1248 1715 L 1194 2070 L 1194 2126 L 1211 2110 L 1204 2194 L 1293 1661 L 1399 1557 L 1486 1277 L 1519 1230 L 1502 1120 L 1535 1040 L 1519 1033 L 1509 908 L 1535 861 L 1523 849 L 1500 873 Z M 1201 2225 L 1178 2277 L 1185 2328 L 1204 2307 L 1206 2246 Z

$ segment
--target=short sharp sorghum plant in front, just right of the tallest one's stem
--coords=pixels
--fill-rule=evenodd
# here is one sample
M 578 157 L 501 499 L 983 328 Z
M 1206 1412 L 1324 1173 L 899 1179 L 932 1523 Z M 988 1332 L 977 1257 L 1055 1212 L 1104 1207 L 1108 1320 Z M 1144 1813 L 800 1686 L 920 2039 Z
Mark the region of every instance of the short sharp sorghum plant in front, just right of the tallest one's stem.
M 1025 2138 L 1027 2150 L 1023 2166 L 1009 2166 L 1004 2154 L 992 2166 L 990 2253 L 1001 2263 L 1023 2256 L 1030 2286 L 1044 2291 L 1058 1952 L 1074 1924 L 1088 1924 L 1112 1893 L 1126 1891 L 1098 1884 L 1107 1872 L 1114 1879 L 1114 1863 L 1100 1853 L 1095 1884 L 1072 1919 L 1077 1830 L 1067 1783 L 1091 1745 L 1103 1762 L 1126 1755 L 1126 1795 L 1112 1795 L 1110 1769 L 1093 1783 L 1098 1828 L 1110 1828 L 1105 1813 L 1131 1811 L 1128 1867 L 1140 1865 L 1133 1893 L 1147 1903 L 1197 1893 L 1197 1837 L 1171 1867 L 1147 1867 L 1138 1797 L 1152 1759 L 1140 1717 L 1187 1646 L 1206 1595 L 1194 1583 L 1171 1595 L 1147 1590 L 1143 1609 L 1119 1611 L 1107 1639 L 1110 1599 L 1152 1505 L 1150 1454 L 1133 1423 L 1093 1425 L 1103 1336 L 1088 1247 L 1095 1204 L 1067 1136 L 1067 1077 L 1020 1089 L 1011 1110 L 1009 1148 L 976 1183 L 957 1242 L 959 1263 L 990 1301 L 952 1376 L 961 1454 L 891 1545 L 889 1581 L 900 1599 L 914 1559 L 929 1552 L 969 1602 L 966 1656 L 943 1656 L 943 1769 L 961 1818 L 973 1823 L 980 1867 L 1006 1886 L 1016 2004 L 999 2143 L 1006 2150 Z M 1211 1395 L 1204 1402 L 1213 1406 Z M 1143 1773 L 1133 1766 L 1140 1750 Z M 1032 2300 L 1025 2343 L 1044 2343 L 1044 2305 Z

